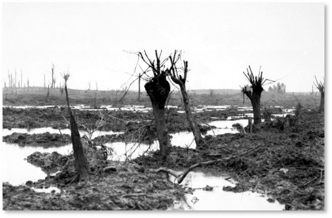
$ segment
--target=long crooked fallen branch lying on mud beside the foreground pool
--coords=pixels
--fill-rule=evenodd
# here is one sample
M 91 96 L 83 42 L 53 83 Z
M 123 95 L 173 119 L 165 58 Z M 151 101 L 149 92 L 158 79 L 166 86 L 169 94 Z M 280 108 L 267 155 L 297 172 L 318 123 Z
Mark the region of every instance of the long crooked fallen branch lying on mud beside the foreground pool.
M 241 154 L 238 154 L 238 155 L 234 155 L 234 156 L 231 156 L 231 157 L 228 157 L 228 158 L 222 158 L 222 159 L 217 159 L 217 160 L 213 160 L 213 161 L 206 161 L 206 162 L 200 162 L 200 163 L 197 163 L 197 164 L 194 164 L 192 166 L 190 166 L 186 171 L 184 171 L 183 173 L 178 173 L 178 172 L 175 172 L 174 170 L 171 170 L 171 169 L 167 169 L 167 168 L 159 168 L 157 170 L 155 170 L 154 172 L 155 173 L 159 173 L 159 172 L 166 172 L 172 176 L 175 176 L 176 180 L 177 180 L 177 183 L 180 184 L 183 179 L 187 176 L 187 174 L 195 169 L 196 167 L 201 167 L 201 166 L 206 166 L 206 165 L 211 165 L 211 164 L 215 164 L 215 163 L 219 163 L 219 162 L 223 162 L 223 161 L 228 161 L 232 158 L 237 158 L 237 157 L 240 157 L 240 156 L 243 156 L 243 155 L 246 155 L 250 152 L 253 152 L 257 149 L 259 149 L 261 147 L 261 145 L 253 148 L 253 149 L 250 149 L 249 151 L 246 151 L 244 153 L 241 153 Z

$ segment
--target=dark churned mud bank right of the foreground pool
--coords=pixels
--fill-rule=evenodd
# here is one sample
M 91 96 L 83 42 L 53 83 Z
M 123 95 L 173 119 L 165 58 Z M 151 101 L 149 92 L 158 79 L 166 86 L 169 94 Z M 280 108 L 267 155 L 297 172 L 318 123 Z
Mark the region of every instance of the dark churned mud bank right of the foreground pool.
M 287 210 L 324 209 L 324 114 L 304 111 L 298 126 L 281 130 L 273 122 L 258 125 L 257 133 L 206 136 L 200 151 L 174 148 L 169 168 L 189 167 L 195 163 L 226 158 L 261 146 L 256 152 L 226 162 L 205 166 L 235 173 L 236 187 L 226 191 L 252 190 L 272 196 Z M 308 125 L 307 123 L 310 123 Z M 211 155 L 220 155 L 212 158 Z M 135 160 L 143 166 L 158 168 L 155 156 Z

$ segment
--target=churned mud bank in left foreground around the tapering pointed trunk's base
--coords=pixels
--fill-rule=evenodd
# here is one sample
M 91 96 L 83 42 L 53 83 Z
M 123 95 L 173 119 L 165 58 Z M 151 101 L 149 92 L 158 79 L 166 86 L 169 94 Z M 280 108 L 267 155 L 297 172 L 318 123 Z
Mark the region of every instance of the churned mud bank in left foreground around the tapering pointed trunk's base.
M 26 185 L 3 183 L 4 210 L 165 210 L 183 199 L 183 190 L 166 174 L 149 172 L 135 163 L 104 160 L 102 152 L 84 143 L 89 161 L 89 180 L 75 181 L 73 155 L 35 152 L 27 161 L 49 174 Z M 67 166 L 67 167 L 66 167 Z M 109 170 L 104 168 L 111 167 Z M 57 187 L 56 193 L 31 188 Z

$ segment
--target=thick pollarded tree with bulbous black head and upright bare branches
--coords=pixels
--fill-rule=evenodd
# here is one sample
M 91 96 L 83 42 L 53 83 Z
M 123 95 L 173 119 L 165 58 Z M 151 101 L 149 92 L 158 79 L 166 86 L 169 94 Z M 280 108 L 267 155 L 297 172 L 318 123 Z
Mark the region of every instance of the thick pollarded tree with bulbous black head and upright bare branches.
M 165 119 L 165 104 L 171 87 L 166 77 L 169 75 L 173 64 L 170 66 L 170 69 L 167 68 L 164 70 L 164 63 L 168 58 L 160 61 L 161 52 L 158 55 L 157 50 L 155 51 L 156 60 L 153 61 L 149 58 L 145 51 L 144 53 L 145 56 L 139 52 L 139 56 L 146 64 L 148 64 L 148 70 L 152 70 L 153 72 L 153 77 L 149 79 L 144 88 L 147 91 L 147 94 L 149 95 L 152 103 L 153 115 L 157 129 L 157 137 L 159 141 L 160 155 L 165 158 L 169 154 L 171 147 Z

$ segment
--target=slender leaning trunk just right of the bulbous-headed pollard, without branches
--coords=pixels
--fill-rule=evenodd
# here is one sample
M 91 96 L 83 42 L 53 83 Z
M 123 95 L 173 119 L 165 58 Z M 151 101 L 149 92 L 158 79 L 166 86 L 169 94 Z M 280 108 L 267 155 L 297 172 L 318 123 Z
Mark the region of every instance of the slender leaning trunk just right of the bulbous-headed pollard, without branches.
M 181 93 L 182 93 L 185 114 L 187 116 L 187 120 L 189 122 L 194 140 L 196 142 L 196 147 L 199 148 L 203 142 L 203 137 L 201 135 L 200 129 L 198 129 L 197 123 L 195 122 L 195 120 L 192 117 L 191 110 L 189 107 L 188 95 L 185 90 L 185 85 L 184 84 L 180 85 L 180 89 L 181 89 Z

